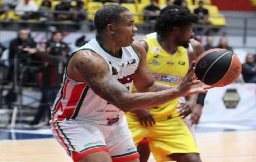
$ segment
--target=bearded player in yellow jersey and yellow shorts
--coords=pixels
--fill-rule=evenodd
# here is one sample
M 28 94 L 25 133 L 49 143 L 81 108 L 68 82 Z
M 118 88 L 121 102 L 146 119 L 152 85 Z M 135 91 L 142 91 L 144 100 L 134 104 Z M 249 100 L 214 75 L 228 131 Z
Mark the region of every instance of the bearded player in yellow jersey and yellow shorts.
M 166 11 L 158 16 L 155 24 L 158 37 L 142 41 L 148 68 L 156 81 L 178 85 L 185 76 L 189 62 L 196 58 L 187 49 L 189 38 L 194 35 L 192 23 L 196 22 L 197 16 L 186 10 Z M 191 103 L 196 103 L 196 96 L 191 99 Z M 133 140 L 137 146 L 147 137 L 157 161 L 201 162 L 192 134 L 176 111 L 177 105 L 178 99 L 152 107 L 149 113 L 147 110 L 126 113 Z M 190 113 L 187 110 L 182 112 L 185 116 Z

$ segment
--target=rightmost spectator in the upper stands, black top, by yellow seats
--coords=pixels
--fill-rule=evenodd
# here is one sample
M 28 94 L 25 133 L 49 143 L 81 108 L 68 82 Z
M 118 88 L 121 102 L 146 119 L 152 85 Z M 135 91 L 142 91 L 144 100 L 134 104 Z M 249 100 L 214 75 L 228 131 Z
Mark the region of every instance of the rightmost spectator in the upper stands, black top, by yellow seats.
M 203 7 L 203 1 L 198 2 L 198 8 L 194 10 L 194 13 L 199 16 L 198 24 L 211 25 L 211 21 L 208 19 L 208 10 Z

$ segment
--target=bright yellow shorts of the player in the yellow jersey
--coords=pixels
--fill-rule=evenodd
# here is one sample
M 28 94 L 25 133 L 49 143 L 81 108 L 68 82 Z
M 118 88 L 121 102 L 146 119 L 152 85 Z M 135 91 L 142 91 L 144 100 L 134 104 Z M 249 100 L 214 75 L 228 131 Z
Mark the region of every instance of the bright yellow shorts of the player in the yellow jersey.
M 147 137 L 156 161 L 171 161 L 167 155 L 173 153 L 199 153 L 192 134 L 179 116 L 156 120 L 152 127 L 141 126 L 139 120 L 131 114 L 125 116 L 135 145 L 138 146 Z

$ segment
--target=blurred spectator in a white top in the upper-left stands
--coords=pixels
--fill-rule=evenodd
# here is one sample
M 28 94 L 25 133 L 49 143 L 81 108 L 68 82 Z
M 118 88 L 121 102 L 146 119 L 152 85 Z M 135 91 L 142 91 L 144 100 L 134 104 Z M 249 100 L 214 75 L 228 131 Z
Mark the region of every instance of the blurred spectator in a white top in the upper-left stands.
M 21 16 L 21 19 L 28 20 L 37 17 L 38 7 L 35 1 L 24 0 L 20 1 L 14 10 L 17 16 Z

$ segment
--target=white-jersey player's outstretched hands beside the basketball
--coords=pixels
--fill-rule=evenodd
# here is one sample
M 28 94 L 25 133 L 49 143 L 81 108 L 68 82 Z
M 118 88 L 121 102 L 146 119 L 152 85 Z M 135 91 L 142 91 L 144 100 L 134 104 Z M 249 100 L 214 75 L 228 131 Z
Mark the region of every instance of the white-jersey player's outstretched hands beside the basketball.
M 195 76 L 195 61 L 192 61 L 186 76 L 183 78 L 180 85 L 177 87 L 184 95 L 194 95 L 197 93 L 207 93 L 210 85 L 206 85 L 197 79 Z

